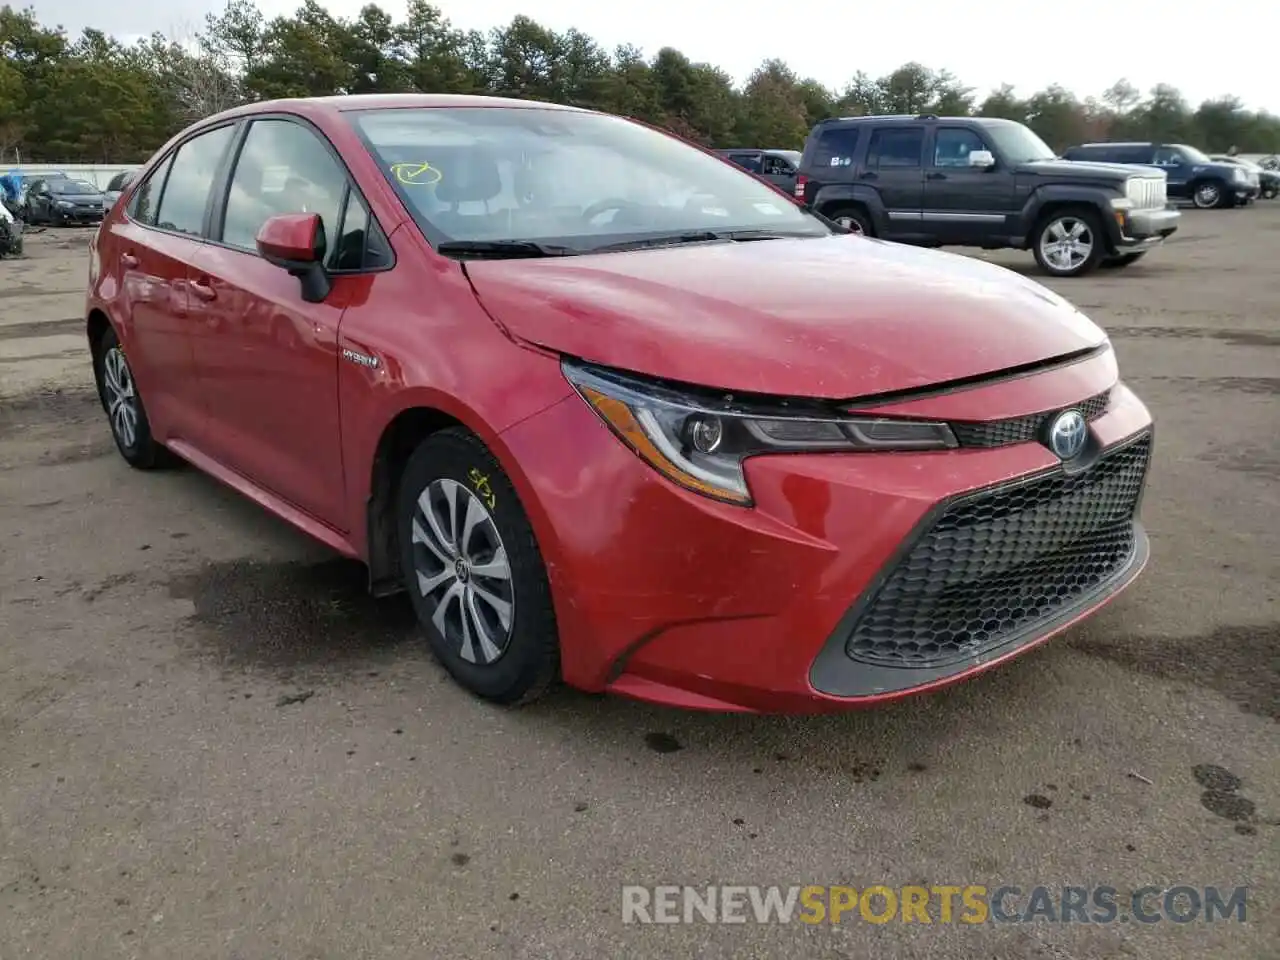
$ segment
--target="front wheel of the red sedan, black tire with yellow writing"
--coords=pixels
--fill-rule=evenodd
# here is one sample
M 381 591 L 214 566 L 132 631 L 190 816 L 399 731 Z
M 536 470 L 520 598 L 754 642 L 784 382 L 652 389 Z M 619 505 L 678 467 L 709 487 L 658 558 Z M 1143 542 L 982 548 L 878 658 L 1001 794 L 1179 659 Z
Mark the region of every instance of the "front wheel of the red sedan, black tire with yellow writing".
M 435 658 L 485 700 L 515 707 L 543 696 L 559 678 L 550 584 L 529 517 L 494 456 L 462 428 L 433 434 L 404 466 L 396 511 L 404 588 Z

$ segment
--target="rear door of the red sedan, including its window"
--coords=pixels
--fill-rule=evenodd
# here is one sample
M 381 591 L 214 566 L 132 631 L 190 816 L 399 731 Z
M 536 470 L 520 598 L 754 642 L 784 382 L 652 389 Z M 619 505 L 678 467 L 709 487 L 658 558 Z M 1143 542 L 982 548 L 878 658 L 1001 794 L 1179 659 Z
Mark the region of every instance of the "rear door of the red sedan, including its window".
M 195 376 L 189 282 L 205 216 L 236 124 L 184 141 L 156 165 L 110 225 L 129 366 L 157 438 L 193 440 L 204 407 Z

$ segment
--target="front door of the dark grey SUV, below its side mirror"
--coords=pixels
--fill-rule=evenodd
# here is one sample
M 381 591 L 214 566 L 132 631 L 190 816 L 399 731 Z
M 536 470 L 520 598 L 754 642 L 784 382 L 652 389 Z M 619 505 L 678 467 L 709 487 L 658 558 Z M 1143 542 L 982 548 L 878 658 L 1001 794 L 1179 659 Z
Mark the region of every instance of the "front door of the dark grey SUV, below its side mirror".
M 973 243 L 1006 233 L 1014 212 L 1014 172 L 1004 164 L 970 166 L 977 151 L 995 155 L 972 127 L 938 125 L 924 173 L 924 223 L 943 243 Z

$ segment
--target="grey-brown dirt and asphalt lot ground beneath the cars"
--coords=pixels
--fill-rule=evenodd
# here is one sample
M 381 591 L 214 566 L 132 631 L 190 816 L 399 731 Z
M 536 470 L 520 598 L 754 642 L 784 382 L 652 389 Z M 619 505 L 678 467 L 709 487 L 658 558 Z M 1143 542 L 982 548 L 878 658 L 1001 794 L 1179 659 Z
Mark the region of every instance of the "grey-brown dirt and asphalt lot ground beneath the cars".
M 115 454 L 86 243 L 0 261 L 4 960 L 1277 955 L 1280 202 L 1051 284 L 1157 420 L 1139 584 L 959 689 L 819 719 L 468 698 L 358 567 Z M 625 925 L 622 886 L 664 883 L 1248 886 L 1248 914 Z

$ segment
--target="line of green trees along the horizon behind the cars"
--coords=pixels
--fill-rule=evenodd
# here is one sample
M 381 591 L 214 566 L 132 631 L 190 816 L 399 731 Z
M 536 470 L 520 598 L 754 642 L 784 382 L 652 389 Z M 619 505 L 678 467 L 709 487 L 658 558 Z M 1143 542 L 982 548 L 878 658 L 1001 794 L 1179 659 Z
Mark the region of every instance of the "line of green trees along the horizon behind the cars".
M 741 86 L 673 47 L 605 50 L 591 37 L 516 17 L 489 32 L 454 28 L 426 0 L 397 22 L 375 4 L 353 19 L 316 0 L 268 19 L 230 0 L 183 38 L 133 45 L 97 29 L 69 37 L 32 8 L 0 6 L 0 163 L 140 163 L 188 123 L 246 101 L 378 92 L 494 93 L 625 114 L 713 147 L 800 148 L 828 116 L 936 113 L 1021 120 L 1052 147 L 1091 140 L 1188 142 L 1208 151 L 1280 151 L 1280 118 L 1238 97 L 1193 108 L 1169 84 L 1117 81 L 1079 100 L 1061 86 L 983 99 L 945 69 L 908 63 L 844 90 L 765 60 Z

